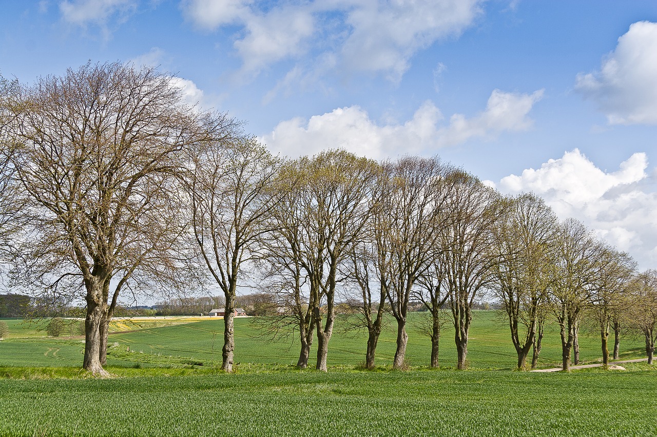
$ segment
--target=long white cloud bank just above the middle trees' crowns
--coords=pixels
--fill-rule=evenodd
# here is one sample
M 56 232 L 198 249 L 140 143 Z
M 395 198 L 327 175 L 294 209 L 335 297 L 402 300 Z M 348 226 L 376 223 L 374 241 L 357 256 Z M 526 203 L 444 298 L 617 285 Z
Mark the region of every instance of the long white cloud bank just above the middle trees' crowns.
M 472 118 L 453 115 L 447 125 L 442 125 L 442 113 L 429 100 L 405 123 L 386 125 L 373 121 L 359 106 L 350 106 L 307 120 L 298 117 L 282 121 L 261 140 L 288 156 L 315 154 L 328 148 L 345 148 L 372 158 L 422 153 L 474 137 L 493 138 L 505 131 L 528 129 L 532 125 L 528 112 L 541 95 L 542 91 L 515 94 L 495 90 L 484 112 Z

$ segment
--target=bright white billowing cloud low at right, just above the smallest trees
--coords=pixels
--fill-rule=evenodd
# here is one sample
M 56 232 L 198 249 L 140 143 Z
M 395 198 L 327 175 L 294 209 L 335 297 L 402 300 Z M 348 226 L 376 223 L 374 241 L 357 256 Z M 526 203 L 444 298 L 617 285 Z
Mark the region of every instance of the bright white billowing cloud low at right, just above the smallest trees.
M 497 184 L 501 192 L 533 192 L 564 219 L 577 218 L 606 241 L 627 251 L 641 268 L 657 267 L 657 180 L 648 175 L 648 156 L 638 152 L 619 169 L 599 169 L 578 149 L 526 169 Z

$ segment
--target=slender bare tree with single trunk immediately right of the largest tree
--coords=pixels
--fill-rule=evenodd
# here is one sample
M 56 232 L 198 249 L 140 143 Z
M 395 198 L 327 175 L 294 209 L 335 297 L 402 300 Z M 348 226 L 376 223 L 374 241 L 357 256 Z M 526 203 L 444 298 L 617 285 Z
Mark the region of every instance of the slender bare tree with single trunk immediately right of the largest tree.
M 281 161 L 244 136 L 210 142 L 193 157 L 189 194 L 200 256 L 225 297 L 221 368 L 233 371 L 235 300 L 279 199 Z

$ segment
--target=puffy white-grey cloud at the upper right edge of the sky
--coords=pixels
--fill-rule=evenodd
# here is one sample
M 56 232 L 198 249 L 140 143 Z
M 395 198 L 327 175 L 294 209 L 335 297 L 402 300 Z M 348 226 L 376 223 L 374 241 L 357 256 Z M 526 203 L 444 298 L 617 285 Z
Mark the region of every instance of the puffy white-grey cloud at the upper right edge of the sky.
M 657 23 L 632 24 L 599 72 L 577 76 L 576 90 L 610 124 L 657 124 Z

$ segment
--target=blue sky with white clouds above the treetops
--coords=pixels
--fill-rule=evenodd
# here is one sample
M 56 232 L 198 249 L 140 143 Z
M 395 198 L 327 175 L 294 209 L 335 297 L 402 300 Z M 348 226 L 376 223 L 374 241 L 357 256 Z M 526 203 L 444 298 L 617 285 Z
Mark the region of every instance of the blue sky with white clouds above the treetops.
M 157 66 L 272 152 L 442 157 L 657 268 L 657 1 L 0 0 L 0 74 Z

